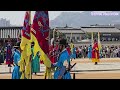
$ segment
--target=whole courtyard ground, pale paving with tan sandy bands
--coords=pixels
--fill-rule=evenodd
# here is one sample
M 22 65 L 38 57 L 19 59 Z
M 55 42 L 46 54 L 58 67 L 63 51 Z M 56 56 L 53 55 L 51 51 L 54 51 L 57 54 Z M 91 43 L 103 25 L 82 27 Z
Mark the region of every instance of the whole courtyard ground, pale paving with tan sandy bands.
M 120 58 L 101 59 L 98 65 L 94 65 L 89 59 L 76 59 L 72 64 L 77 63 L 72 69 L 76 73 L 76 79 L 120 79 Z M 11 71 L 13 67 L 11 68 Z M 33 79 L 44 79 L 45 66 L 40 65 L 40 72 L 32 75 Z M 72 78 L 73 78 L 73 74 Z M 11 79 L 7 65 L 0 65 L 0 79 Z

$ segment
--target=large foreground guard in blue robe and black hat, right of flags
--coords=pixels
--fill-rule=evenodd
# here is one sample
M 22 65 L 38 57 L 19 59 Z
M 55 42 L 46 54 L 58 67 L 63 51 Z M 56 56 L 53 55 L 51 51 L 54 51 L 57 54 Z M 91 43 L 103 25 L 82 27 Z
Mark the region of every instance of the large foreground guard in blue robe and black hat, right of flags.
M 54 79 L 71 79 L 71 74 L 69 71 L 67 71 L 70 66 L 70 55 L 66 50 L 65 45 L 66 40 L 61 40 L 59 44 L 59 49 L 61 53 L 59 55 L 58 62 L 54 64 L 54 66 L 56 67 L 56 70 L 54 72 Z M 63 74 L 63 71 L 66 71 L 66 73 Z M 61 74 L 63 75 L 61 76 Z

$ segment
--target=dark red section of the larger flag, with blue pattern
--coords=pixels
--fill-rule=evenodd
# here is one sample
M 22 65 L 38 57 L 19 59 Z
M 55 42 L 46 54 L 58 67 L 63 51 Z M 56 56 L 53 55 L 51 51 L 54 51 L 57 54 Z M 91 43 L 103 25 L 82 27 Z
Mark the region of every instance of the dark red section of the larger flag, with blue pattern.
M 48 54 L 49 53 L 49 18 L 48 11 L 37 11 L 34 16 L 32 28 L 36 30 L 36 33 L 32 31 L 39 42 L 41 49 Z

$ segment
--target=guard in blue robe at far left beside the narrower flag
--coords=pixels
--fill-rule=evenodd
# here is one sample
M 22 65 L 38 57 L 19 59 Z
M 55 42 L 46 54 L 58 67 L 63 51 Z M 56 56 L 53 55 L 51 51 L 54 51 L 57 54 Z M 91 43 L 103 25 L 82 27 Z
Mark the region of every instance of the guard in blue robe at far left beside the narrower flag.
M 20 67 L 18 65 L 18 62 L 20 61 L 21 53 L 20 53 L 20 43 L 17 44 L 14 48 L 14 55 L 13 55 L 13 60 L 14 60 L 14 69 L 12 72 L 12 79 L 20 79 L 21 77 L 21 72 L 20 72 Z

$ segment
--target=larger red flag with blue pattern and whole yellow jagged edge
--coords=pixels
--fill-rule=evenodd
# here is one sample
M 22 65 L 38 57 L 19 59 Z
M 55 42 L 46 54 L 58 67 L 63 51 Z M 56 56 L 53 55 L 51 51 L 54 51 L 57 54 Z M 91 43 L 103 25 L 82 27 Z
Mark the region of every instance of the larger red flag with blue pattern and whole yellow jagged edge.
M 32 41 L 35 42 L 35 54 L 40 51 L 44 64 L 50 66 L 49 54 L 49 15 L 48 11 L 36 11 L 31 29 Z M 34 38 L 34 39 L 33 39 Z M 48 65 L 49 64 L 49 65 Z

